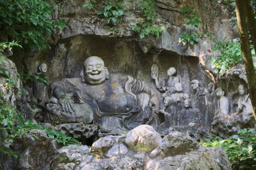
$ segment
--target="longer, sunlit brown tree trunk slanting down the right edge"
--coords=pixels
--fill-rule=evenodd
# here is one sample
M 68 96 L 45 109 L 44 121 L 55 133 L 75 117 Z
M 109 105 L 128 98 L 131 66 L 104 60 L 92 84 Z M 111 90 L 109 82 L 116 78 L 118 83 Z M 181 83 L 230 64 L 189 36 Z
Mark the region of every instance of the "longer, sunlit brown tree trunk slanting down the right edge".
M 247 9 L 248 10 L 248 9 Z M 236 0 L 236 17 L 238 24 L 238 33 L 241 42 L 241 52 L 244 60 L 244 67 L 247 77 L 248 89 L 252 104 L 252 113 L 256 120 L 256 75 L 254 71 L 249 35 L 247 30 L 247 24 L 245 19 L 244 1 Z

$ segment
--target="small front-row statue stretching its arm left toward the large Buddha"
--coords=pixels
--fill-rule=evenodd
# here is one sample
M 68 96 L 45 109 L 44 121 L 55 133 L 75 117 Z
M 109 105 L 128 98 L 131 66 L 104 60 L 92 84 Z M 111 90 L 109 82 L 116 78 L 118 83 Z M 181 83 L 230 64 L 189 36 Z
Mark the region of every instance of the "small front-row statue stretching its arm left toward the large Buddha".
M 171 97 L 164 98 L 165 110 L 158 110 L 158 113 L 164 114 L 164 123 L 160 125 L 162 128 L 170 128 L 177 125 L 178 116 L 176 108 L 171 106 Z M 165 127 L 164 127 L 165 126 Z

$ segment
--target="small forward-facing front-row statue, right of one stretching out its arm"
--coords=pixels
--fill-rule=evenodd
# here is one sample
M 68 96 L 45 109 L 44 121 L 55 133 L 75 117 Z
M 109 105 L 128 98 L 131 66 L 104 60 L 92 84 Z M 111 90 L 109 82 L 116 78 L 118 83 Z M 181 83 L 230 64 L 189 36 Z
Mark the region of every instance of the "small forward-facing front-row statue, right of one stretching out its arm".
M 191 100 L 184 101 L 185 108 L 180 112 L 180 125 L 188 125 L 189 123 L 198 123 L 198 113 L 196 109 L 192 109 Z

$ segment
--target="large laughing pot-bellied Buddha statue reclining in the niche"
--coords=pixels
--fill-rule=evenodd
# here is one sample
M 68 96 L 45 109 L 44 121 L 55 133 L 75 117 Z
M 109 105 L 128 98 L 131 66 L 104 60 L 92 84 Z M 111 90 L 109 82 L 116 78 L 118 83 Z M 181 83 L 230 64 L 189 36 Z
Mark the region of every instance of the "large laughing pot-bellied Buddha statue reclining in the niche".
M 157 126 L 154 114 L 159 109 L 160 99 L 156 90 L 133 77 L 109 74 L 103 60 L 97 56 L 85 60 L 81 79 L 56 81 L 51 91 L 48 121 L 65 115 L 65 121 L 59 120 L 59 123 L 67 123 L 67 120 L 72 123 L 84 115 L 90 117 L 86 123 L 93 118 L 94 123 L 101 124 L 101 134 L 122 134 L 141 124 Z

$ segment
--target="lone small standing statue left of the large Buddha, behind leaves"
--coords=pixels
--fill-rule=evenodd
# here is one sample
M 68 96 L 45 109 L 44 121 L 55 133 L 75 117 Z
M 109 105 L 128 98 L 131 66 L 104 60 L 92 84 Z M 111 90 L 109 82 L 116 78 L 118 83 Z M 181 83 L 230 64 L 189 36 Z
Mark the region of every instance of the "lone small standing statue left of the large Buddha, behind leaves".
M 41 63 L 39 66 L 38 74 L 45 74 L 47 71 L 47 66 L 45 63 Z M 48 100 L 48 92 L 45 84 L 38 84 L 33 81 L 33 96 L 37 100 L 37 103 L 41 106 L 45 105 L 45 102 Z

